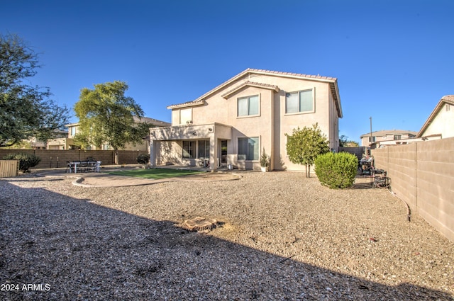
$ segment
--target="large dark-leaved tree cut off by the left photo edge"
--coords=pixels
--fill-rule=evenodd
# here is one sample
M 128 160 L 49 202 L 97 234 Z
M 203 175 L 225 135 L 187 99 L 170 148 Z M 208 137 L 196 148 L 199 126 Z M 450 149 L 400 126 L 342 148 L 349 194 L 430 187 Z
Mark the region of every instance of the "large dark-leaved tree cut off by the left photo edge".
M 21 38 L 0 35 L 0 147 L 29 137 L 46 140 L 69 119 L 48 88 L 27 84 L 38 67 L 38 56 Z

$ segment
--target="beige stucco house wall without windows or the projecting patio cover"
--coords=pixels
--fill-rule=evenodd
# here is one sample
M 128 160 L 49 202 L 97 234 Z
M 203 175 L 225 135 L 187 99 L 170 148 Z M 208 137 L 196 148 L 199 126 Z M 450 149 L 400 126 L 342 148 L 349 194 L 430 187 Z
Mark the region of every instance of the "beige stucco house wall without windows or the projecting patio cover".
M 240 86 L 245 81 L 258 82 L 278 86 L 276 92 L 271 87 L 245 86 L 234 93 L 223 97 L 226 92 Z M 313 89 L 314 113 L 285 113 L 286 93 Z M 259 114 L 248 117 L 238 117 L 237 101 L 240 97 L 259 96 Z M 187 110 L 187 106 L 172 110 L 172 125 L 180 124 L 180 110 Z M 331 120 L 331 122 L 330 122 Z M 307 79 L 290 79 L 281 76 L 259 75 L 244 78 L 225 86 L 220 91 L 205 99 L 203 105 L 192 107 L 192 125 L 209 123 L 223 123 L 231 125 L 232 137 L 228 142 L 228 154 L 238 152 L 238 137 L 259 137 L 260 152 L 272 156 L 271 169 L 301 170 L 303 166 L 292 164 L 285 150 L 287 138 L 294 128 L 311 127 L 319 123 L 319 127 L 330 142 L 330 148 L 338 147 L 338 115 L 336 105 L 326 82 L 310 81 Z M 238 162 L 235 162 L 238 164 Z M 252 162 L 255 168 L 259 161 Z

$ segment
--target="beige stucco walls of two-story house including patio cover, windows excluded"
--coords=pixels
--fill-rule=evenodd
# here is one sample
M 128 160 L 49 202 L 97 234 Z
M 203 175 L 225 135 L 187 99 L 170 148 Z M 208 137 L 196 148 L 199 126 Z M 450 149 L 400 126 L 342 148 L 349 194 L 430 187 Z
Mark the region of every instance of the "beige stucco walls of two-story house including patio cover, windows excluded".
M 246 81 L 251 84 L 237 89 Z M 172 109 L 172 127 L 150 130 L 151 140 L 174 141 L 172 142 L 172 152 L 167 153 L 166 156 L 173 159 L 175 164 L 185 163 L 181 159 L 182 143 L 180 140 L 210 139 L 211 152 L 215 161 L 220 154 L 220 140 L 228 140 L 228 164 L 233 164 L 238 168 L 260 169 L 260 160 L 238 161 L 236 156 L 238 138 L 259 137 L 260 153 L 265 148 L 265 152 L 272 158 L 271 169 L 303 170 L 304 166 L 292 164 L 289 161 L 285 134 L 290 135 L 294 128 L 311 127 L 315 123 L 319 124 L 322 132 L 328 138 L 329 147 L 338 148 L 338 111 L 328 82 L 273 74 L 253 74 L 223 85 L 222 89 L 207 95 L 204 101 L 196 103 L 194 106 L 184 104 L 174 107 Z M 286 94 L 306 89 L 313 89 L 314 112 L 286 114 Z M 258 115 L 238 117 L 238 98 L 255 95 L 259 97 Z M 192 123 L 186 123 L 185 120 L 182 120 L 184 118 L 181 118 L 182 110 L 188 109 L 192 110 Z M 204 132 L 204 127 L 201 127 L 201 125 L 214 124 L 228 126 L 214 127 L 216 129 L 214 132 Z M 196 137 L 189 135 L 193 130 L 198 132 Z M 221 135 L 220 130 L 227 131 L 228 134 Z M 152 142 L 152 147 L 158 151 L 160 147 L 153 143 L 155 142 Z M 156 157 L 156 164 L 162 164 L 164 161 L 167 161 L 167 158 L 162 157 L 162 154 Z

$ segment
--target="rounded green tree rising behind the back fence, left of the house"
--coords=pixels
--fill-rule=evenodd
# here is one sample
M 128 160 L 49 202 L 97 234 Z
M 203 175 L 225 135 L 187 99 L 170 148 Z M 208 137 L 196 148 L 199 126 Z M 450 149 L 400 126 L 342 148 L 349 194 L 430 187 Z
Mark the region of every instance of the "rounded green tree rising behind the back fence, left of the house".
M 110 144 L 115 150 L 127 143 L 141 144 L 152 125 L 135 123 L 143 118 L 143 110 L 134 99 L 125 96 L 128 85 L 123 81 L 95 84 L 82 89 L 74 111 L 79 118 L 79 132 L 74 142 L 82 148 L 93 144 Z

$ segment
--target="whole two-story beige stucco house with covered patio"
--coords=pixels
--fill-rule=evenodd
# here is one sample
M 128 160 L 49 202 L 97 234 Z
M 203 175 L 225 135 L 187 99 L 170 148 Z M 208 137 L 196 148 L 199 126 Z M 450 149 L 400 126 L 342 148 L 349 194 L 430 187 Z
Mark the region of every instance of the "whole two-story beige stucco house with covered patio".
M 194 101 L 167 108 L 172 126 L 150 129 L 152 166 L 260 169 L 265 149 L 271 170 L 303 170 L 289 161 L 285 134 L 315 123 L 338 149 L 342 108 L 332 77 L 246 69 Z

